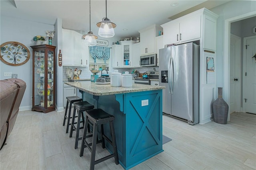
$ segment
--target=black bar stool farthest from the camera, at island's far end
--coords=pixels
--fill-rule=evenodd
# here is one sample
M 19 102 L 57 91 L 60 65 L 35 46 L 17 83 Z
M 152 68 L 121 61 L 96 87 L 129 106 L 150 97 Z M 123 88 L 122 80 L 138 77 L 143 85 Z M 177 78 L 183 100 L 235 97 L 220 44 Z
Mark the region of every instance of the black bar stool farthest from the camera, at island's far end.
M 66 133 L 68 133 L 69 125 L 71 125 L 70 118 L 72 118 L 72 117 L 70 117 L 72 104 L 74 102 L 80 102 L 83 100 L 81 98 L 79 98 L 78 96 L 68 96 L 68 97 L 66 97 L 66 99 L 67 99 L 67 104 L 66 104 L 66 110 L 65 110 L 64 120 L 63 120 L 63 126 L 65 125 L 66 119 L 68 119 L 67 128 L 66 128 Z M 68 110 L 68 103 L 70 103 L 69 110 Z M 67 111 L 68 111 L 68 116 L 67 116 Z

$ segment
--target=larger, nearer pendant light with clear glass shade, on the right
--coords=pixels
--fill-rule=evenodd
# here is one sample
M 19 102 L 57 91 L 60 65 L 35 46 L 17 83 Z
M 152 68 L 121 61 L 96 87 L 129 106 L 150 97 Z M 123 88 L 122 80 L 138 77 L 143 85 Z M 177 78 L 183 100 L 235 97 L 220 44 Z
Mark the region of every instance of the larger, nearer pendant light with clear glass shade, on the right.
M 100 37 L 114 37 L 115 32 L 114 28 L 116 27 L 116 24 L 110 21 L 110 19 L 107 18 L 107 0 L 106 0 L 106 18 L 102 18 L 102 21 L 98 22 L 96 24 L 99 28 L 98 35 Z

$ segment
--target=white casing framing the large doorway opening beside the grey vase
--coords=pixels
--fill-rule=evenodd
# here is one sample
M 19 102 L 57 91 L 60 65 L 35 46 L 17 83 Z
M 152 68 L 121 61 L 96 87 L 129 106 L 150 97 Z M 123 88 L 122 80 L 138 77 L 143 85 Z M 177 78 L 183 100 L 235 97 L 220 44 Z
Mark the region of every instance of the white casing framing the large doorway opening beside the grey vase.
M 224 93 L 223 97 L 226 102 L 230 103 L 230 24 L 235 21 L 244 20 L 246 18 L 256 16 L 255 12 L 249 12 L 240 16 L 235 16 L 225 20 L 224 23 L 224 57 L 223 57 L 223 71 L 224 71 Z M 230 109 L 228 109 L 228 121 L 230 121 Z

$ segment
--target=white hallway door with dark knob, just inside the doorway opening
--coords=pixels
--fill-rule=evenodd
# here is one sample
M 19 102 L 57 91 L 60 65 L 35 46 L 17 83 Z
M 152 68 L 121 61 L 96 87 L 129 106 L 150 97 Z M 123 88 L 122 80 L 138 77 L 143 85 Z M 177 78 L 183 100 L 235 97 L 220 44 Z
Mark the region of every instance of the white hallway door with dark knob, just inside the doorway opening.
M 230 35 L 230 113 L 241 107 L 241 38 Z

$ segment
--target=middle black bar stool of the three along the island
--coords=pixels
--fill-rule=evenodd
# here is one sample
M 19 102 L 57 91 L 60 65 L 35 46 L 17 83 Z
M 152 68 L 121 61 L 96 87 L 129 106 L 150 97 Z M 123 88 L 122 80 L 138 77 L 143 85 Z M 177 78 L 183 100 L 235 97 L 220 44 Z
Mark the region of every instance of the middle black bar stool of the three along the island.
M 83 114 L 83 112 L 86 110 L 89 110 L 89 109 L 94 109 L 94 106 L 92 104 L 89 104 L 86 101 L 74 103 L 74 111 L 73 111 L 73 116 L 72 116 L 72 123 L 71 123 L 69 137 L 72 137 L 73 131 L 76 131 L 75 149 L 77 149 L 77 147 L 78 147 L 78 141 L 82 139 L 82 137 L 79 138 L 79 130 L 84 129 L 84 114 Z M 76 110 L 78 111 L 77 122 L 75 122 Z M 82 115 L 83 127 L 80 127 L 81 115 Z M 75 126 L 75 124 L 76 124 L 76 126 Z M 89 132 L 90 125 L 88 124 L 87 126 L 88 126 L 88 132 Z M 88 137 L 92 137 L 92 135 L 88 135 Z

